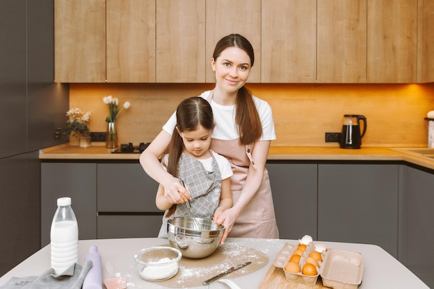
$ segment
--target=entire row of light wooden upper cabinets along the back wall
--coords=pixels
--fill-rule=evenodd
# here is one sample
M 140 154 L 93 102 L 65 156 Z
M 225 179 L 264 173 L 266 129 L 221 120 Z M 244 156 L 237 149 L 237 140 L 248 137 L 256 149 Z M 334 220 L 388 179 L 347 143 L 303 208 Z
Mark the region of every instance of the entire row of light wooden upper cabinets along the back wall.
M 55 82 L 214 83 L 218 40 L 248 82 L 434 81 L 431 0 L 54 0 Z

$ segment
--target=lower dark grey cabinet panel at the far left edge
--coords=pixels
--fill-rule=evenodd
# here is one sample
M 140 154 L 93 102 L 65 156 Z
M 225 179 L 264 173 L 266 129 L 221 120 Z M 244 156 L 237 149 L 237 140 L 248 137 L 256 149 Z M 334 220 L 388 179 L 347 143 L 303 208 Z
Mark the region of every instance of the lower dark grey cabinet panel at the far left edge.
M 40 249 L 37 152 L 0 157 L 0 276 Z

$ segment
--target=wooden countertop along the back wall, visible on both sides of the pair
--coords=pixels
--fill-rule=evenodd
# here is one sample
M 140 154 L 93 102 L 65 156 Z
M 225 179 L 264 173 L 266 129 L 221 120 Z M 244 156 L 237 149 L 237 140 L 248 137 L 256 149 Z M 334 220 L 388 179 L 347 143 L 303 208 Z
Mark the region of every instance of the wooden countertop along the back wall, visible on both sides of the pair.
M 139 160 L 139 154 L 116 154 L 105 148 L 103 143 L 89 148 L 63 144 L 40 150 L 40 159 L 113 159 Z M 270 148 L 269 160 L 312 160 L 312 161 L 407 161 L 434 169 L 434 159 L 406 153 L 403 148 L 361 148 L 357 150 L 331 147 L 275 147 Z

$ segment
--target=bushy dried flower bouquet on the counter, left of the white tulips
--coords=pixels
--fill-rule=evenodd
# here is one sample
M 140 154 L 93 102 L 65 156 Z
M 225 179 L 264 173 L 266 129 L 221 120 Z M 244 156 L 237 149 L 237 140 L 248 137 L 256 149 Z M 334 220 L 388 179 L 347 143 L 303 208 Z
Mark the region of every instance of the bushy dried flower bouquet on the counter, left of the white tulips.
M 91 114 L 92 112 L 82 112 L 78 108 L 68 110 L 67 116 L 69 116 L 69 120 L 65 123 L 64 127 L 57 128 L 55 138 L 68 141 L 71 134 L 76 138 L 89 137 L 89 121 Z

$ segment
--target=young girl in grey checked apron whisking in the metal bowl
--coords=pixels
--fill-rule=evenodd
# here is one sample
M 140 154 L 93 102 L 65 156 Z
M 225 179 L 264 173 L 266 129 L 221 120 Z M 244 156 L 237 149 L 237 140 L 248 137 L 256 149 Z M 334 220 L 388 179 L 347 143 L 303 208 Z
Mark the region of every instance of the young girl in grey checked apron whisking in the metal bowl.
M 185 184 L 189 194 L 177 201 L 158 187 L 155 203 L 166 210 L 159 237 L 167 238 L 167 220 L 174 217 L 217 219 L 232 207 L 229 161 L 209 150 L 215 123 L 211 105 L 200 97 L 183 100 L 176 110 L 176 126 L 162 159 L 162 166 Z M 191 209 L 185 202 L 190 200 Z M 227 230 L 223 232 L 224 240 Z

